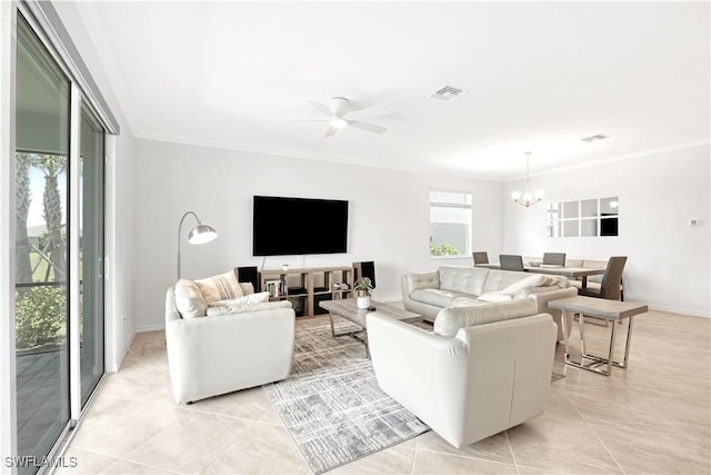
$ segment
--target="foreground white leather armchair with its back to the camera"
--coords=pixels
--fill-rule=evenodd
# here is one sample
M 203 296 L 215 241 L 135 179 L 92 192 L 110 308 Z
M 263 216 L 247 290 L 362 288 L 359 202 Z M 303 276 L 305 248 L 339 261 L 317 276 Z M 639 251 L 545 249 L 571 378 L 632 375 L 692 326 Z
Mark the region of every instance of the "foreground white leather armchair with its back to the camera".
M 533 299 L 449 307 L 433 333 L 378 311 L 367 319 L 380 387 L 454 447 L 543 413 L 557 328 Z

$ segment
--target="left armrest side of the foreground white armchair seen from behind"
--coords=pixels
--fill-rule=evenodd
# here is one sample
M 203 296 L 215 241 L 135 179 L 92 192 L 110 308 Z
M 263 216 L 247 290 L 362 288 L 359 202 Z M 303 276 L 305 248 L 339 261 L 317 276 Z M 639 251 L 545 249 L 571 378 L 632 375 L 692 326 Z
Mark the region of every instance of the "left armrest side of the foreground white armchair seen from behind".
M 467 345 L 377 311 L 365 318 L 380 387 L 438 434 L 458 437 L 467 404 Z

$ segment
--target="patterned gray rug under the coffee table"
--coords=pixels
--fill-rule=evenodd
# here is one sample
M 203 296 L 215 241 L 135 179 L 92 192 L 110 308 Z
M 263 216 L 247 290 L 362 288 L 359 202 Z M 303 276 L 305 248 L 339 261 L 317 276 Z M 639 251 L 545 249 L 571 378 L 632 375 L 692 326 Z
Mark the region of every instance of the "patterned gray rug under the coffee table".
M 297 320 L 291 375 L 262 387 L 314 474 L 430 429 L 380 389 L 363 344 L 331 336 L 328 317 Z

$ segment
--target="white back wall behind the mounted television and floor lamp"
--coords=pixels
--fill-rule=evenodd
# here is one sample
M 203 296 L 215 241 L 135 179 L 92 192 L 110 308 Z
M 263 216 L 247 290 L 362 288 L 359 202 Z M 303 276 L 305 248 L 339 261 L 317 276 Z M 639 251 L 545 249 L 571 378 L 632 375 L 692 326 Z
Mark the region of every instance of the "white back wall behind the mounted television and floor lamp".
M 186 219 L 182 276 L 200 278 L 238 266 L 262 266 L 252 257 L 252 196 L 273 195 L 349 200 L 349 253 L 307 257 L 268 257 L 266 269 L 350 265 L 374 260 L 374 298 L 400 299 L 400 276 L 437 268 L 442 261 L 471 265 L 471 257 L 429 257 L 429 190 L 444 188 L 474 195 L 474 247 L 498 253 L 503 228 L 503 185 L 494 181 L 424 175 L 222 150 L 163 141 L 137 140 L 134 258 L 137 330 L 161 328 L 166 288 L 177 280 L 178 224 L 194 211 L 218 230 L 218 239 L 191 246 Z M 477 226 L 477 224 L 484 226 Z M 280 229 L 289 235 L 299 229 Z M 324 219 L 323 232 L 328 232 Z

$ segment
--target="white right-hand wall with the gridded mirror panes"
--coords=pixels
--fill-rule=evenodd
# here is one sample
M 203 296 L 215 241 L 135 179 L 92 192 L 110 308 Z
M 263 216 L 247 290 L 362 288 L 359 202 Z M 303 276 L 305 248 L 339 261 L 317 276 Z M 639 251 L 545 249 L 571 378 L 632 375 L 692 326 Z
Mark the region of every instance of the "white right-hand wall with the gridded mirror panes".
M 625 300 L 709 317 L 710 162 L 707 145 L 534 176 L 531 187 L 543 189 L 545 198 L 529 209 L 505 199 L 503 248 L 524 256 L 628 256 Z M 507 184 L 504 197 L 522 187 Z M 619 237 L 545 237 L 547 202 L 611 196 L 620 198 Z M 690 218 L 701 218 L 702 226 L 689 226 Z

